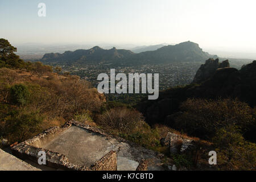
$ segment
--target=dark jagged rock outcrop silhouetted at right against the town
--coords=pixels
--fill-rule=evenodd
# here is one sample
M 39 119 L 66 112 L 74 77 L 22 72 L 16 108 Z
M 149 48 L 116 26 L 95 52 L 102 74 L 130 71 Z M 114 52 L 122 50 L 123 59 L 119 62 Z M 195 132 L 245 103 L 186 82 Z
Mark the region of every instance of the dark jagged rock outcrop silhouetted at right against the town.
M 218 59 L 208 59 L 205 61 L 205 64 L 202 64 L 199 70 L 196 72 L 193 82 L 202 82 L 208 80 L 213 76 L 214 72 L 218 68 L 230 67 L 229 60 L 222 61 L 219 63 Z

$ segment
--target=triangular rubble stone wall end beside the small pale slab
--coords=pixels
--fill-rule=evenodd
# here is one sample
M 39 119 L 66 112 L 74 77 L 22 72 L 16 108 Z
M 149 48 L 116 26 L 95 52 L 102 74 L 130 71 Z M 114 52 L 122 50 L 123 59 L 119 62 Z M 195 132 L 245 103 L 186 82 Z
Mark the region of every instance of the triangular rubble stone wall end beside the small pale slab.
M 93 164 L 90 169 L 93 171 L 117 171 L 117 152 L 113 150 L 108 152 Z

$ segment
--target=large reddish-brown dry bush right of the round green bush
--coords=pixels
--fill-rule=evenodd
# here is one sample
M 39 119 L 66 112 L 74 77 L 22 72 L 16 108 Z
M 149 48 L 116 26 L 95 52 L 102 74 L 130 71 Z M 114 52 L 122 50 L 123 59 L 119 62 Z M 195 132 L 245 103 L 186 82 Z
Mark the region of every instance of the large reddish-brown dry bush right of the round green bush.
M 65 119 L 71 119 L 75 113 L 81 114 L 83 110 L 100 110 L 104 96 L 91 88 L 88 81 L 80 80 L 79 76 L 48 75 L 50 78 L 41 77 L 33 81 L 41 87 L 35 90 L 35 98 L 31 102 L 35 108 L 41 107 L 42 111 L 50 111 L 50 115 Z

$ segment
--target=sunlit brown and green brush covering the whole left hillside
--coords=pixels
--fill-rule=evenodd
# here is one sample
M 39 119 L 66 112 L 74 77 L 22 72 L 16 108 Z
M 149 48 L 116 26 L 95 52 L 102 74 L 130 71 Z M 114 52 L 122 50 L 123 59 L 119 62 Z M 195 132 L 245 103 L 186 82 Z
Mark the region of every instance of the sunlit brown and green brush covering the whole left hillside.
M 96 125 L 90 118 L 103 101 L 103 95 L 77 76 L 46 72 L 38 77 L 36 72 L 0 68 L 0 137 L 22 142 L 74 115 Z

